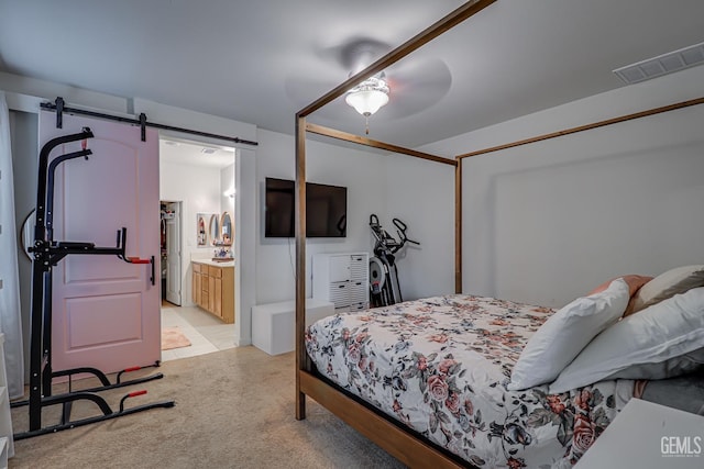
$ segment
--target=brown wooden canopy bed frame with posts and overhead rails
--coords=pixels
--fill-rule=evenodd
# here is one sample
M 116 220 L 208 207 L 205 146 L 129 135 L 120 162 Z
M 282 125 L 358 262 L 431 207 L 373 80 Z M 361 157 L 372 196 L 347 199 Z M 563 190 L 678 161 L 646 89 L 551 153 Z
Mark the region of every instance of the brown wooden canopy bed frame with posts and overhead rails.
M 330 103 L 334 99 L 343 96 L 364 79 L 384 70 L 388 66 L 400 60 L 422 45 L 440 36 L 448 30 L 457 26 L 470 16 L 479 13 L 484 8 L 496 0 L 470 1 L 458 8 L 447 16 L 442 18 L 425 31 L 420 32 L 396 49 L 380 58 L 364 70 L 352 76 L 327 94 L 319 98 L 307 108 L 296 114 L 296 418 L 306 418 L 306 397 L 327 407 L 330 412 L 342 418 L 350 426 L 362 435 L 366 436 L 392 456 L 407 466 L 413 467 L 466 467 L 468 461 L 449 454 L 421 438 L 400 424 L 392 421 L 371 405 L 362 402 L 359 398 L 349 394 L 346 391 L 321 379 L 316 371 L 311 360 L 307 356 L 305 345 L 306 327 L 306 135 L 323 135 L 359 145 L 364 145 L 392 153 L 404 154 L 417 158 L 437 161 L 454 167 L 455 190 L 454 190 L 454 291 L 462 292 L 462 160 L 472 156 L 483 155 L 563 135 L 587 131 L 605 125 L 625 122 L 647 115 L 668 112 L 695 104 L 704 103 L 704 98 L 683 101 L 671 105 L 650 109 L 634 114 L 627 114 L 605 121 L 600 121 L 578 127 L 539 135 L 505 145 L 480 149 L 462 155 L 457 155 L 453 159 L 430 155 L 422 152 L 405 148 L 402 146 L 374 141 L 363 136 L 349 134 L 342 131 L 324 127 L 306 122 L 306 118 Z

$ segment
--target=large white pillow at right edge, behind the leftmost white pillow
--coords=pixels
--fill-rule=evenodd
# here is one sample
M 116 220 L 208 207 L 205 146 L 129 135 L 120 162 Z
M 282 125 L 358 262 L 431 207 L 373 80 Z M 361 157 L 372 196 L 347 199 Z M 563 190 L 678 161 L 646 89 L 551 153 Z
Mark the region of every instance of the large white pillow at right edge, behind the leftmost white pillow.
M 684 362 L 674 366 L 674 359 L 685 356 L 685 360 L 688 354 L 691 358 L 702 347 L 704 288 L 695 288 L 624 317 L 604 331 L 562 370 L 550 384 L 550 393 L 605 379 L 672 378 L 688 368 Z

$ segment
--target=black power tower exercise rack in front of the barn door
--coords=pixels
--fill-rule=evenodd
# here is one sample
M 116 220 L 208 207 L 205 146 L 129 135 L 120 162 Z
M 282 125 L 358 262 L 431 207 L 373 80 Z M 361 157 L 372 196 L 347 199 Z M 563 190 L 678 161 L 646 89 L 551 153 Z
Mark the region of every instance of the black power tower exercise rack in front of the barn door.
M 16 433 L 14 439 L 23 439 L 46 433 L 55 433 L 76 426 L 87 425 L 95 422 L 116 418 L 136 412 L 157 407 L 173 407 L 174 401 L 161 401 L 150 404 L 132 406 L 125 409 L 128 399 L 145 394 L 145 390 L 134 391 L 125 394 L 120 401 L 119 410 L 110 407 L 108 402 L 97 392 L 108 389 L 122 388 L 131 384 L 139 384 L 164 377 L 162 373 L 154 373 L 132 380 L 122 380 L 122 375 L 135 371 L 141 368 L 158 367 L 157 360 L 147 367 L 131 367 L 120 371 L 114 382 L 105 372 L 92 367 L 79 367 L 66 370 L 52 370 L 52 268 L 68 255 L 114 255 L 130 264 L 151 264 L 151 281 L 154 284 L 154 256 L 151 259 L 140 259 L 125 256 L 127 228 L 118 230 L 116 247 L 97 247 L 94 243 L 55 242 L 53 239 L 53 216 L 54 216 L 54 175 L 58 165 L 74 158 L 86 158 L 92 155 L 87 146 L 87 139 L 94 134 L 88 127 L 84 127 L 80 133 L 64 135 L 47 142 L 40 152 L 36 214 L 34 227 L 34 245 L 29 248 L 33 254 L 32 260 L 32 310 L 30 328 L 30 397 L 28 400 L 12 402 L 12 406 L 29 406 L 29 431 Z M 51 152 L 58 145 L 70 142 L 82 141 L 82 149 L 65 155 L 61 155 L 48 161 Z M 100 386 L 74 391 L 72 378 L 77 375 L 92 375 L 100 381 Z M 57 377 L 68 377 L 68 392 L 52 395 L 52 381 Z M 76 401 L 91 401 L 100 410 L 100 414 L 72 421 L 72 405 Z M 59 423 L 50 426 L 42 426 L 42 410 L 50 405 L 62 404 L 62 415 Z

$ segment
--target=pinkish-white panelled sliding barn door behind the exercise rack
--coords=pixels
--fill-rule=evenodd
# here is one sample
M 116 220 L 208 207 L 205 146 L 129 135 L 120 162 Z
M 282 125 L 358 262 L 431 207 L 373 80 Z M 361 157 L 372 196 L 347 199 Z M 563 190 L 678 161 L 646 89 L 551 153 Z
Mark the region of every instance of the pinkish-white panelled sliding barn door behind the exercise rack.
M 114 247 L 127 227 L 128 264 L 113 255 L 69 255 L 53 269 L 52 368 L 95 367 L 113 372 L 161 359 L 158 134 L 113 121 L 42 111 L 40 147 L 59 135 L 90 127 L 92 155 L 56 169 L 54 241 Z M 56 156 L 80 142 L 54 148 Z

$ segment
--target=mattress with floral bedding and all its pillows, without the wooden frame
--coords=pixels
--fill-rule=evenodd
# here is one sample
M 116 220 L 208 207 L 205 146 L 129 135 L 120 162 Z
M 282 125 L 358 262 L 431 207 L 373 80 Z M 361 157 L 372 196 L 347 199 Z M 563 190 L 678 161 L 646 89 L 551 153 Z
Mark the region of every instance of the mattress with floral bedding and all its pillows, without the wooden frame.
M 339 313 L 305 344 L 320 379 L 461 465 L 562 468 L 634 397 L 702 411 L 703 311 L 694 265 L 557 311 L 448 294 Z

